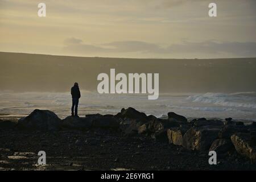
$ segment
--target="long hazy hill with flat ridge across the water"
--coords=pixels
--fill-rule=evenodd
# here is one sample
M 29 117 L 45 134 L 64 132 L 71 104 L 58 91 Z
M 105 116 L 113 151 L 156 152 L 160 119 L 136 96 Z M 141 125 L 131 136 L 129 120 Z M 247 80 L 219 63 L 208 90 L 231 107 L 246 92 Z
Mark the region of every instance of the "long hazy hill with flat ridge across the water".
M 0 90 L 69 91 L 73 82 L 96 90 L 97 75 L 159 73 L 163 92 L 256 91 L 256 58 L 121 59 L 0 52 Z

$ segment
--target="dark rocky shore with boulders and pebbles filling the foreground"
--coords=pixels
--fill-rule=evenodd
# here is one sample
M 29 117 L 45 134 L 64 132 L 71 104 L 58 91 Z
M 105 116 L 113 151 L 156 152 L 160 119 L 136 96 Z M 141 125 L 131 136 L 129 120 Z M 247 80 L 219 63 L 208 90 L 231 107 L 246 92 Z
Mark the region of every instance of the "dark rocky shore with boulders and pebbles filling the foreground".
M 46 166 L 37 164 L 39 151 Z M 129 107 L 65 119 L 36 109 L 18 122 L 0 120 L 0 170 L 255 170 L 255 163 L 256 123 L 232 118 L 161 119 Z

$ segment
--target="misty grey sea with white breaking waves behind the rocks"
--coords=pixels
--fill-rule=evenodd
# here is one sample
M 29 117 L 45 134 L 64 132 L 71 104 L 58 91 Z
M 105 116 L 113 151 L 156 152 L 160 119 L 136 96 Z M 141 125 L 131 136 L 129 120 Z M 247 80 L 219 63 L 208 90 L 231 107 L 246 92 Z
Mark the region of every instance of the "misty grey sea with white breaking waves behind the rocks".
M 54 92 L 0 92 L 0 118 L 20 118 L 34 109 L 48 109 L 60 118 L 71 115 L 71 94 Z M 228 117 L 236 121 L 256 121 L 256 92 L 240 93 L 162 93 L 158 100 L 147 100 L 147 94 L 98 94 L 82 90 L 79 115 L 117 114 L 122 108 L 135 109 L 166 118 L 173 111 L 193 118 Z

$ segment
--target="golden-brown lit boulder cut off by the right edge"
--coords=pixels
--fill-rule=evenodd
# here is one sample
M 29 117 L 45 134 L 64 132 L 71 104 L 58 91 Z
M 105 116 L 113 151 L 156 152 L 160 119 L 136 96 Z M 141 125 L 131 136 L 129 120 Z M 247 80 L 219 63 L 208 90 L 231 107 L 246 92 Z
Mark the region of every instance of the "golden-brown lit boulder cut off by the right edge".
M 237 133 L 231 136 L 231 140 L 238 154 L 256 162 L 256 143 L 251 140 L 250 134 Z

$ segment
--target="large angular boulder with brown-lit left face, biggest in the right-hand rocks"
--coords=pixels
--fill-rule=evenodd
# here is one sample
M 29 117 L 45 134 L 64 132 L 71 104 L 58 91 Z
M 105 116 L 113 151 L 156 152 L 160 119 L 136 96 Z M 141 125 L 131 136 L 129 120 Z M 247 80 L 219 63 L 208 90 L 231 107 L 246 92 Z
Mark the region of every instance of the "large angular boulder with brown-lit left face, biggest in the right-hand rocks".
M 208 151 L 219 131 L 218 127 L 191 127 L 183 136 L 182 146 L 188 150 Z

